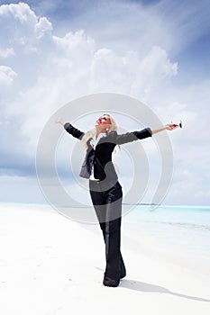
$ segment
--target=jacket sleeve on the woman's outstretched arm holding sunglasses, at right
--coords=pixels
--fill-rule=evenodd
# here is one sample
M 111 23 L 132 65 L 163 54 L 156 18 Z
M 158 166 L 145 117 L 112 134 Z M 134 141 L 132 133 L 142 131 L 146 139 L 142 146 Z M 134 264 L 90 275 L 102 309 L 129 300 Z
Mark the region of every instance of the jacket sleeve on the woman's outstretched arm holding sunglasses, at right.
M 123 134 L 116 134 L 114 138 L 114 143 L 116 144 L 123 144 L 132 142 L 138 139 L 145 139 L 152 136 L 151 128 L 145 128 L 140 131 L 132 131 L 132 132 L 126 132 Z

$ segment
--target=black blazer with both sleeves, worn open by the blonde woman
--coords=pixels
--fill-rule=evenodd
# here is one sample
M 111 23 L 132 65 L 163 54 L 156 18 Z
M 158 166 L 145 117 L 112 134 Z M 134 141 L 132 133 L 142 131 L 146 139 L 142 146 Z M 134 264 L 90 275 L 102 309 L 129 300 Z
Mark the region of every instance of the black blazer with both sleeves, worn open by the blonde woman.
M 65 130 L 68 131 L 73 137 L 82 139 L 85 132 L 82 132 L 70 123 L 65 123 Z M 87 140 L 87 154 L 84 163 L 79 173 L 80 176 L 89 178 L 91 175 L 92 166 L 94 165 L 94 176 L 100 180 L 117 180 L 117 175 L 112 162 L 112 153 L 116 145 L 120 145 L 127 142 L 132 142 L 138 139 L 145 139 L 151 137 L 152 132 L 150 128 L 145 128 L 140 131 L 126 132 L 123 134 L 117 134 L 116 131 L 112 131 L 107 134 L 106 137 L 101 138 L 96 148 L 91 145 L 91 139 Z

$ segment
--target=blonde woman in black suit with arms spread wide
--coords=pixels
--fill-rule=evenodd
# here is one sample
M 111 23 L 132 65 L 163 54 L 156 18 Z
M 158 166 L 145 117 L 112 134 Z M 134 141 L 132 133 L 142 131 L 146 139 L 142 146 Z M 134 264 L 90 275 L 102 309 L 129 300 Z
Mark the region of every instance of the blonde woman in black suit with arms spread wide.
M 117 134 L 113 117 L 104 113 L 95 123 L 95 130 L 84 133 L 61 119 L 56 121 L 73 137 L 82 140 L 87 155 L 80 176 L 89 179 L 90 196 L 105 239 L 105 275 L 103 284 L 116 287 L 126 275 L 120 251 L 122 186 L 118 182 L 112 153 L 116 145 L 151 137 L 162 130 L 174 130 L 177 124 L 168 124 L 157 130 L 146 128 L 140 131 Z

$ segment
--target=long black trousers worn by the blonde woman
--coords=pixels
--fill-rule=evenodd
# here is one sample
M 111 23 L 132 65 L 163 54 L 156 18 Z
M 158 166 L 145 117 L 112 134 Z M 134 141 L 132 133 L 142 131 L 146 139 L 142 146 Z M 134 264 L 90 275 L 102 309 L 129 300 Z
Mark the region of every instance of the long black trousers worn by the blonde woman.
M 105 277 L 119 280 L 125 275 L 125 266 L 121 255 L 121 216 L 122 216 L 122 186 L 119 182 L 104 184 L 89 181 L 90 196 L 96 211 L 96 216 L 105 239 Z

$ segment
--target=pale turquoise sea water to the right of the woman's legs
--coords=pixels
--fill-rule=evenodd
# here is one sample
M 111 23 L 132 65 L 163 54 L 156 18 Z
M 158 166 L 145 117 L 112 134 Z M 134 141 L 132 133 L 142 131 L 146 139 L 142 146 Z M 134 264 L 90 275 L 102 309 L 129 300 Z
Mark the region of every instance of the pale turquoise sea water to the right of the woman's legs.
M 151 211 L 149 205 L 136 205 L 123 216 L 123 228 L 139 239 L 157 241 L 170 253 L 195 258 L 210 274 L 210 206 L 162 205 Z

